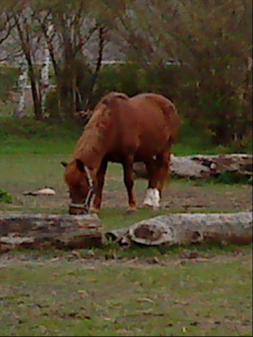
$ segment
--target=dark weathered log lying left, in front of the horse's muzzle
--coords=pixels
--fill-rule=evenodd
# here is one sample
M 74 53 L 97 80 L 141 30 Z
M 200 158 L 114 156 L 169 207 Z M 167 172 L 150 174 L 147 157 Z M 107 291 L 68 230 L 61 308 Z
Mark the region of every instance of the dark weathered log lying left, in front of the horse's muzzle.
M 14 247 L 89 248 L 102 245 L 97 214 L 0 214 L 0 251 Z

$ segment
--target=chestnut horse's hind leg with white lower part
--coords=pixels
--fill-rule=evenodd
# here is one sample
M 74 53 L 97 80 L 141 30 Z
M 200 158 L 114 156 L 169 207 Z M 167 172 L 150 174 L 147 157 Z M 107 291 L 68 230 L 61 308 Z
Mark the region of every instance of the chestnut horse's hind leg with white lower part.
M 156 158 L 146 162 L 149 177 L 148 189 L 143 201 L 144 206 L 159 207 L 161 191 L 169 172 L 169 156 L 158 154 Z

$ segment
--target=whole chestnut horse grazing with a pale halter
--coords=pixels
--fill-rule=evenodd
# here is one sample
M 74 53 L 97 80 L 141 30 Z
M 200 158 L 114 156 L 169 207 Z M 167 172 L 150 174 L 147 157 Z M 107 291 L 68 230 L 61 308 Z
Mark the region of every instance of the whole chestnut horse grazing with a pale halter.
M 100 209 L 108 161 L 123 165 L 129 210 L 133 211 L 133 163 L 144 162 L 149 183 L 143 204 L 159 207 L 178 126 L 177 110 L 164 96 L 144 93 L 128 97 L 118 92 L 104 96 L 78 140 L 73 160 L 61 162 L 70 189 L 69 213 L 87 212 L 93 194 L 93 207 Z

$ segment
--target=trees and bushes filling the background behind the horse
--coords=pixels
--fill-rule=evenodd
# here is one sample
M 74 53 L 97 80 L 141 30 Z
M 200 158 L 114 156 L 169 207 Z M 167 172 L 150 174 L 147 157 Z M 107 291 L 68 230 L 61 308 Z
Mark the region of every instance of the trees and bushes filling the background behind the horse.
M 250 0 L 4 0 L 1 28 L 4 56 L 25 55 L 37 119 L 37 64 L 46 46 L 57 87 L 47 104 L 54 117 L 91 109 L 110 90 L 153 91 L 217 144 L 251 136 Z M 108 59 L 123 64 L 102 67 Z

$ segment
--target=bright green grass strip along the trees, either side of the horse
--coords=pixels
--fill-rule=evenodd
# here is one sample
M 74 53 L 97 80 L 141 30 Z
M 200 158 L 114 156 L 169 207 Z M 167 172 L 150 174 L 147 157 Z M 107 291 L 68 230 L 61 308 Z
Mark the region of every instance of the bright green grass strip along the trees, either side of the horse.
M 1 117 L 1 153 L 71 153 L 83 127 L 73 121 L 52 124 L 34 121 L 32 118 L 18 120 Z M 252 153 L 251 145 L 239 152 Z M 229 146 L 213 146 L 202 142 L 200 137 L 180 135 L 173 145 L 174 155 L 218 154 L 238 152 Z

